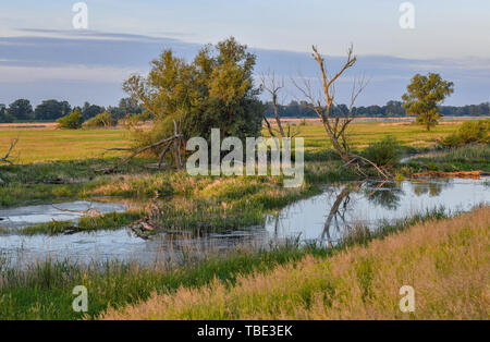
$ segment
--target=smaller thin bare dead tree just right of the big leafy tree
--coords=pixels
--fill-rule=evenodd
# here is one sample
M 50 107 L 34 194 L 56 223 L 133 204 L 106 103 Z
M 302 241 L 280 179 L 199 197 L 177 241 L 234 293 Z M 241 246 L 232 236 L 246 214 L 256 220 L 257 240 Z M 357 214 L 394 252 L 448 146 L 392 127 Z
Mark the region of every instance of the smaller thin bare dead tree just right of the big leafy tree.
M 291 130 L 291 124 L 287 123 L 287 131 L 284 131 L 283 127 L 283 123 L 281 121 L 281 115 L 279 113 L 279 107 L 278 107 L 278 101 L 279 101 L 279 95 L 281 89 L 284 88 L 284 78 L 277 78 L 275 77 L 275 73 L 272 72 L 268 72 L 268 73 L 262 73 L 260 75 L 260 81 L 261 81 L 261 86 L 262 88 L 270 94 L 271 99 L 272 99 L 272 109 L 274 111 L 274 120 L 275 120 L 275 124 L 278 125 L 278 129 L 274 130 L 272 127 L 272 125 L 270 124 L 269 120 L 267 119 L 266 114 L 264 114 L 264 121 L 266 122 L 266 126 L 267 130 L 269 131 L 269 134 L 272 137 L 277 137 L 277 134 L 279 134 L 281 137 L 294 137 L 295 135 L 298 134 L 297 131 L 292 132 Z

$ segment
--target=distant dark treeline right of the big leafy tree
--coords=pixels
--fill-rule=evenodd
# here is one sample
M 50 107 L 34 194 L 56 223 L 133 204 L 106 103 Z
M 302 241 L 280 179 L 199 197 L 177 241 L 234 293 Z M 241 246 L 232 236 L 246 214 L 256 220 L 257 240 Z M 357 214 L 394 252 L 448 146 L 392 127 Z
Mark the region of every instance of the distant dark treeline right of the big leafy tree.
M 368 106 L 355 107 L 353 112 L 357 117 L 364 118 L 400 118 L 406 117 L 406 111 L 402 107 L 402 101 L 388 101 L 385 106 Z M 317 114 L 309 108 L 306 101 L 291 101 L 286 106 L 278 106 L 279 113 L 282 118 L 316 118 Z M 489 102 L 480 105 L 469 105 L 463 107 L 442 106 L 439 108 L 440 113 L 444 117 L 480 117 L 490 115 Z M 348 112 L 345 105 L 333 107 L 332 117 Z M 266 115 L 273 117 L 273 108 L 271 102 L 266 103 Z

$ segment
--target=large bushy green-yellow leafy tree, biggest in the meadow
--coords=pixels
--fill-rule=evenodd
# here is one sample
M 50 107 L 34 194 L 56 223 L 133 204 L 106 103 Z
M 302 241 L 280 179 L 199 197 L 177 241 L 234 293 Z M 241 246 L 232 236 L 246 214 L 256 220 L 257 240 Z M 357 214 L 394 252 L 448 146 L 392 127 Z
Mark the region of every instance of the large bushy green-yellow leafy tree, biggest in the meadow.
M 139 144 L 172 135 L 173 121 L 184 138 L 209 138 L 212 127 L 223 136 L 258 135 L 264 108 L 253 82 L 255 60 L 234 38 L 206 46 L 189 63 L 164 50 L 147 77 L 133 75 L 123 85 L 155 118 Z

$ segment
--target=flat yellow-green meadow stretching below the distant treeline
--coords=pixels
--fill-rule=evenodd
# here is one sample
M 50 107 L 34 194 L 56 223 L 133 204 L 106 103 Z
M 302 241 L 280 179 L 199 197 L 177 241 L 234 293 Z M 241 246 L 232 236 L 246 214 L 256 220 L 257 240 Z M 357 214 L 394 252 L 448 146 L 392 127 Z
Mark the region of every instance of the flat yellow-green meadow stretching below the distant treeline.
M 298 136 L 305 137 L 307 149 L 330 145 L 318 120 L 307 120 L 306 125 L 301 125 L 301 121 L 294 120 L 293 124 L 299 130 Z M 351 125 L 351 138 L 354 146 L 364 148 L 391 134 L 405 145 L 420 147 L 433 144 L 436 138 L 454 132 L 461 124 L 458 121 L 443 122 L 427 132 L 409 122 L 355 122 Z M 267 135 L 267 131 L 264 134 Z M 0 124 L 0 155 L 9 148 L 11 137 L 20 138 L 14 151 L 19 163 L 98 158 L 106 148 L 127 147 L 130 144 L 126 131 L 122 129 L 69 131 L 54 130 L 52 123 Z

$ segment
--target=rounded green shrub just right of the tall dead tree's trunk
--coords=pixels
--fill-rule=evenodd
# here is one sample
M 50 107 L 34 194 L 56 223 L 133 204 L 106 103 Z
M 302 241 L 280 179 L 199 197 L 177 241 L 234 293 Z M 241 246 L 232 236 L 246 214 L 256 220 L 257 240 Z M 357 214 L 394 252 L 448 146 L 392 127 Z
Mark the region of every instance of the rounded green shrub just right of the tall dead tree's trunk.
M 393 167 L 402 158 L 402 151 L 396 138 L 387 135 L 381 141 L 370 144 L 365 149 L 364 156 L 377 166 Z

